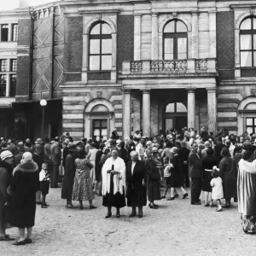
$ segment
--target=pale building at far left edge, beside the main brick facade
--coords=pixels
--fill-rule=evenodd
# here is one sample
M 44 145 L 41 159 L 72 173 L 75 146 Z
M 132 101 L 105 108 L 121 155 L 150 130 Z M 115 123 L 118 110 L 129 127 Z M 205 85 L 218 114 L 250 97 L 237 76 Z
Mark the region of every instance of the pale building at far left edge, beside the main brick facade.
M 9 137 L 15 119 L 18 17 L 15 11 L 0 12 L 0 137 Z

